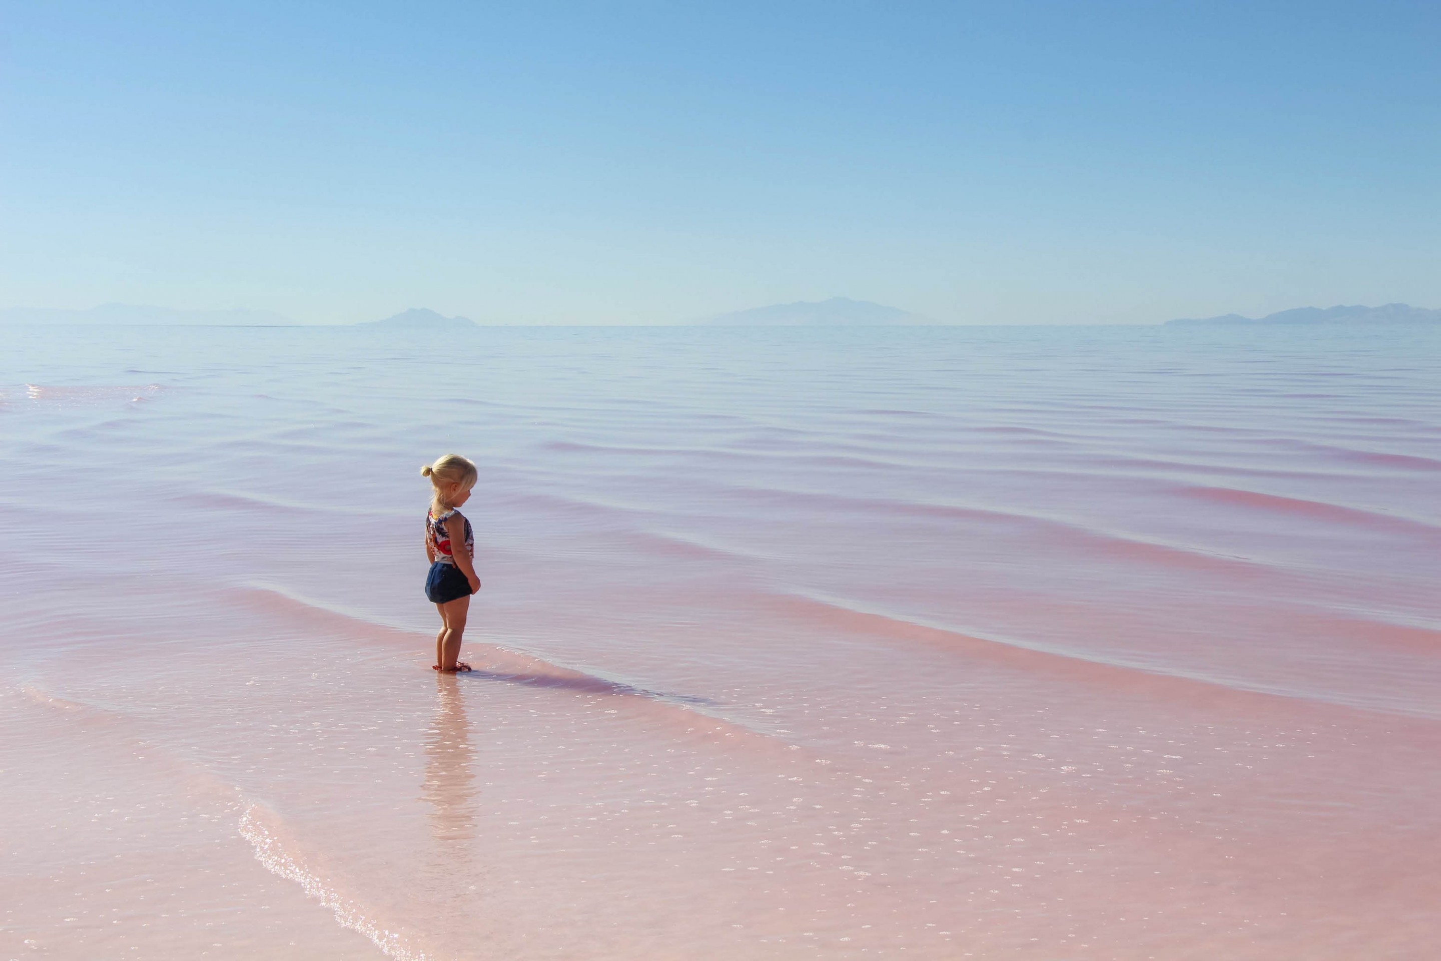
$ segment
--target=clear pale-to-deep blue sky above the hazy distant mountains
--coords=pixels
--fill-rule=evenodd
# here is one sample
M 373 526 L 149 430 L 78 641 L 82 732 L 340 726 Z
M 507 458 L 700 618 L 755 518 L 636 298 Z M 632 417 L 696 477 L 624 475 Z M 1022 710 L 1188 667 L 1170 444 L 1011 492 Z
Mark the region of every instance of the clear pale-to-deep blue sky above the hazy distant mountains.
M 1441 307 L 1441 3 L 0 1 L 0 307 Z

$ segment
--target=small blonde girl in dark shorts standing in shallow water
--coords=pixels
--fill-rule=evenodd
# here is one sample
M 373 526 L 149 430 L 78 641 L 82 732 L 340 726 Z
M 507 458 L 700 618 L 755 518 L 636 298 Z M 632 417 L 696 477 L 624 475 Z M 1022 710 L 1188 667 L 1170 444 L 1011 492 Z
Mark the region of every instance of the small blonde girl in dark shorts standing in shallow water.
M 431 573 L 425 578 L 425 596 L 441 612 L 441 633 L 435 635 L 435 670 L 454 674 L 468 671 L 463 664 L 460 643 L 465 634 L 465 614 L 470 595 L 480 589 L 476 565 L 471 560 L 476 539 L 470 522 L 455 510 L 470 500 L 476 486 L 476 465 L 458 454 L 447 454 L 421 468 L 435 488 L 431 509 L 425 514 L 425 556 Z

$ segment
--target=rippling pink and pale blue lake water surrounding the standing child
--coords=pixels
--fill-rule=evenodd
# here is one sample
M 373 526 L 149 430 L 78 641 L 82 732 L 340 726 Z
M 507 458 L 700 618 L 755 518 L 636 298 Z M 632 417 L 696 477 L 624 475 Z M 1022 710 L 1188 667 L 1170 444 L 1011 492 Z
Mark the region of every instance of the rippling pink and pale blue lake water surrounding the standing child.
M 1441 331 L 0 336 L 3 957 L 1437 957 Z

